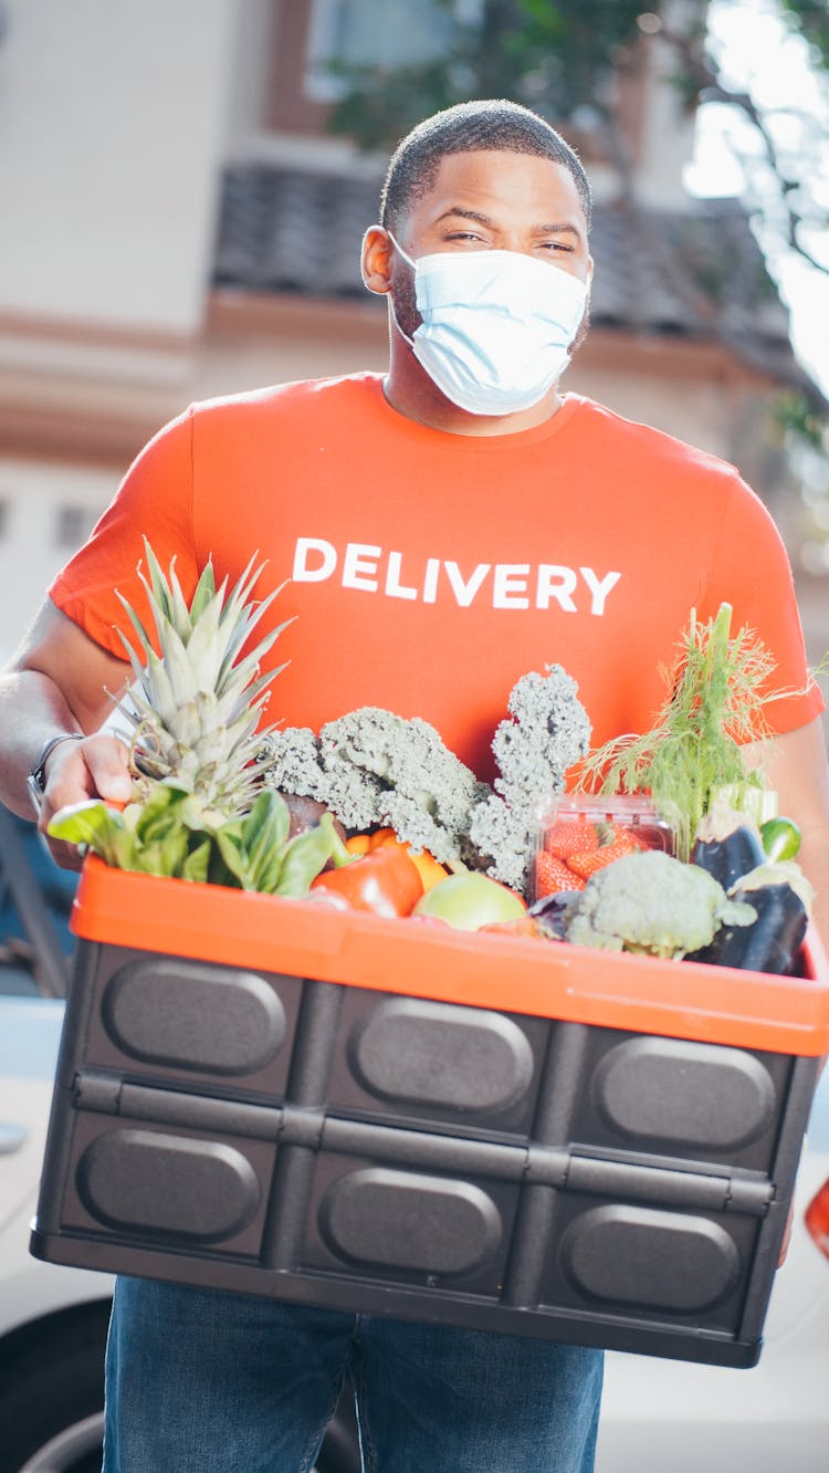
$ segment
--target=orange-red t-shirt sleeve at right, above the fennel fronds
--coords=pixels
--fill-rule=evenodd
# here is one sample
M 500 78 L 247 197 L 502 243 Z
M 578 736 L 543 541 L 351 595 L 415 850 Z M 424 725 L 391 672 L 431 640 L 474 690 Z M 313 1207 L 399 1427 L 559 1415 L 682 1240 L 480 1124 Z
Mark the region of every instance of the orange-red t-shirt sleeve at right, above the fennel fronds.
M 733 607 L 732 633 L 748 626 L 775 660 L 766 682 L 763 716 L 772 732 L 804 726 L 825 709 L 810 673 L 792 570 L 780 533 L 760 501 L 735 473 L 708 583 L 710 613 Z

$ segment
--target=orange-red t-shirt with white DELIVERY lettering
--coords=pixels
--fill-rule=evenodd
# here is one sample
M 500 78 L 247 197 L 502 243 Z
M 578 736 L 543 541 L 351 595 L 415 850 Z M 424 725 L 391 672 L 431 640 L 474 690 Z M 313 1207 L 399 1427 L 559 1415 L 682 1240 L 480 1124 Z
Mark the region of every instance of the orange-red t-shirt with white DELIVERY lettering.
M 760 499 L 732 465 L 579 395 L 542 426 L 480 437 L 412 423 L 374 374 L 191 407 L 50 589 L 116 655 L 130 630 L 115 588 L 146 616 L 143 535 L 163 567 L 175 555 L 187 597 L 209 557 L 233 582 L 258 552 L 261 597 L 289 580 L 269 722 L 421 716 L 484 778 L 521 675 L 562 664 L 595 745 L 645 731 L 691 610 L 707 620 L 723 600 L 772 651 L 773 686 L 800 692 L 767 707 L 773 729 L 823 709 Z

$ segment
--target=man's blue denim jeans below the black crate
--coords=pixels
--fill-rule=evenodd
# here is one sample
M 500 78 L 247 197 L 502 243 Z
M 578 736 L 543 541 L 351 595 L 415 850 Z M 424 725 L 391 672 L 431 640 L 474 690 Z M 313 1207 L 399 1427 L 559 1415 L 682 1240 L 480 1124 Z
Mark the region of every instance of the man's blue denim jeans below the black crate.
M 119 1279 L 105 1473 L 308 1473 L 346 1368 L 367 1473 L 590 1473 L 602 1352 Z

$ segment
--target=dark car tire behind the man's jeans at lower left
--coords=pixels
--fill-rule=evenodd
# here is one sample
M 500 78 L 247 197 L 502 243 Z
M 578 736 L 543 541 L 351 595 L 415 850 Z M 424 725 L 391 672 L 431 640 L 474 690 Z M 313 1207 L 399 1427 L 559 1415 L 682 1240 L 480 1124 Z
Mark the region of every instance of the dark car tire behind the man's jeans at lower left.
M 109 1301 L 13 1332 L 0 1348 L 0 1473 L 100 1473 Z M 356 1420 L 337 1408 L 317 1473 L 359 1473 Z

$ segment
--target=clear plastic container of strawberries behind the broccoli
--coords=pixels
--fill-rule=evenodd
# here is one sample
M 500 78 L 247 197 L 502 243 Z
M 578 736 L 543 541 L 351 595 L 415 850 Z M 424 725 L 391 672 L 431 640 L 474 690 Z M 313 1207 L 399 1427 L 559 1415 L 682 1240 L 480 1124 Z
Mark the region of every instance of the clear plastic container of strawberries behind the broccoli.
M 673 825 L 649 798 L 565 792 L 539 822 L 530 900 L 582 890 L 590 873 L 643 848 L 676 850 Z

